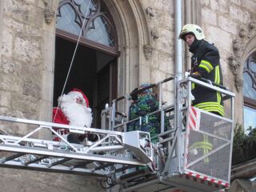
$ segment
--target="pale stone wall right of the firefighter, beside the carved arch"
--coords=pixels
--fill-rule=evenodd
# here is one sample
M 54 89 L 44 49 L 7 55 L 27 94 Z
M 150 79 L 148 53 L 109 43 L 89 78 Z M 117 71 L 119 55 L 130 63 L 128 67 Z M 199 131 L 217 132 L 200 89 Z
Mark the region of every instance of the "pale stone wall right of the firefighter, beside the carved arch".
M 230 68 L 230 57 L 234 55 L 234 40 L 240 38 L 240 30 L 242 28 L 249 30 L 249 24 L 255 21 L 256 2 L 240 0 L 201 0 L 200 2 L 202 4 L 202 27 L 205 30 L 206 38 L 218 47 L 224 84 L 236 94 L 236 122 L 242 123 L 242 66 L 248 55 L 241 50 L 241 55 L 237 58 L 240 65 L 238 75 L 234 75 L 234 70 Z M 242 44 L 246 42 L 250 41 L 241 39 L 238 46 L 242 47 Z

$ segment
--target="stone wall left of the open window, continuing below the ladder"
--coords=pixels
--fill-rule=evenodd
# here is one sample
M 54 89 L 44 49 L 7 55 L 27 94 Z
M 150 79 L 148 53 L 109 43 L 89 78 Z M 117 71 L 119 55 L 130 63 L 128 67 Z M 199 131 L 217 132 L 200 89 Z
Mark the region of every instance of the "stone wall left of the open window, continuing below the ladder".
M 58 1 L 0 2 L 0 114 L 50 121 L 54 67 L 54 13 Z M 25 126 L 0 129 L 25 134 Z M 50 133 L 39 136 L 45 138 Z M 0 168 L 1 191 L 103 191 L 98 180 L 70 174 Z

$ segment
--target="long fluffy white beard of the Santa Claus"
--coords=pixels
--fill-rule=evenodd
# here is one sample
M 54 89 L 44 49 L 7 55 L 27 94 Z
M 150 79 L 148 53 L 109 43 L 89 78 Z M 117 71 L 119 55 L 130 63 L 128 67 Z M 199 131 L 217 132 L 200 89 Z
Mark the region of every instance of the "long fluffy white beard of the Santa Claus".
M 93 118 L 90 107 L 74 102 L 74 99 L 68 94 L 64 94 L 58 99 L 58 102 L 60 102 L 62 112 L 70 121 L 70 126 L 91 126 Z

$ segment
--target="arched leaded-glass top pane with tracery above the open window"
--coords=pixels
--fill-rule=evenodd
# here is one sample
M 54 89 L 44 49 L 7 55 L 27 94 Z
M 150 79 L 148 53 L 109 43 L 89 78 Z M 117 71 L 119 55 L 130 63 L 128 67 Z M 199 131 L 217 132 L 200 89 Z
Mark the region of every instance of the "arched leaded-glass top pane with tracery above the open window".
M 82 43 L 118 54 L 114 22 L 102 0 L 61 0 L 56 24 L 59 36 L 75 40 L 82 30 Z

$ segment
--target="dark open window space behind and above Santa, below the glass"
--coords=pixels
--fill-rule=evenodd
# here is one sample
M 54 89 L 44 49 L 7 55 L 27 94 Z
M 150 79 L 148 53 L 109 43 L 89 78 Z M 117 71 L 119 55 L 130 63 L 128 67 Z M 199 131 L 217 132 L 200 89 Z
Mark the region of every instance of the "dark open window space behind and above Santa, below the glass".
M 76 44 L 56 36 L 54 67 L 54 106 L 66 81 Z M 64 94 L 74 87 L 82 90 L 93 110 L 93 127 L 100 128 L 100 114 L 106 103 L 116 98 L 117 62 L 114 56 L 79 45 L 67 78 Z

